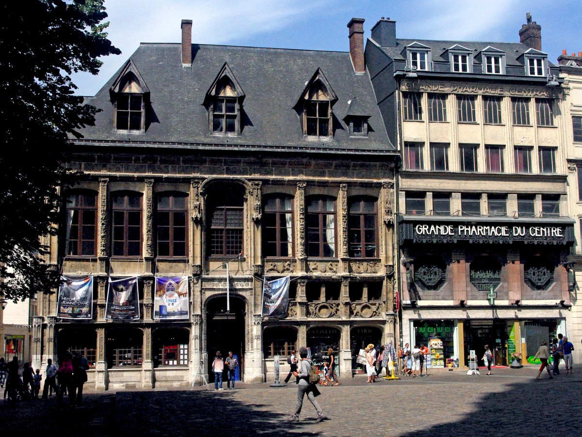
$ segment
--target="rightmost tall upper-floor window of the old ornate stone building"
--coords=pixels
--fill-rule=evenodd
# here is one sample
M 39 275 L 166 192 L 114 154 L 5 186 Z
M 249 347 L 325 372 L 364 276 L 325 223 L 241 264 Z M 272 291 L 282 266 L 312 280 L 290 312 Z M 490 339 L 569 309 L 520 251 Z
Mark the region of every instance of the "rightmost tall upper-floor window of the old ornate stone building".
M 378 205 L 374 198 L 350 199 L 348 239 L 350 257 L 374 258 L 377 256 Z

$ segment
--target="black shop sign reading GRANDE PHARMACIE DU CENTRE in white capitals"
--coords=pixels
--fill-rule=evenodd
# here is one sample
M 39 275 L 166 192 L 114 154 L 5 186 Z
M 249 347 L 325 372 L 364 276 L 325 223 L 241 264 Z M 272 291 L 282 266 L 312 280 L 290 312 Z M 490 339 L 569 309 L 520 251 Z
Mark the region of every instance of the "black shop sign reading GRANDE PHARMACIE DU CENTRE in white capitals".
M 569 244 L 574 242 L 570 219 L 475 219 L 451 217 L 448 221 L 404 216 L 399 220 L 400 244 L 416 243 L 513 243 Z

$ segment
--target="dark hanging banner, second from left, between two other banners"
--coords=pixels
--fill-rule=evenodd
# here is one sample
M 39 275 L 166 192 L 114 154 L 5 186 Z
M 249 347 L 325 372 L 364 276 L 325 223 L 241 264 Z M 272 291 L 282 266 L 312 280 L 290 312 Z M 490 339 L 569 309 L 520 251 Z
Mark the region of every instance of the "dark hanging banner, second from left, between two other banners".
M 137 277 L 113 280 L 109 278 L 105 318 L 136 320 L 140 318 Z

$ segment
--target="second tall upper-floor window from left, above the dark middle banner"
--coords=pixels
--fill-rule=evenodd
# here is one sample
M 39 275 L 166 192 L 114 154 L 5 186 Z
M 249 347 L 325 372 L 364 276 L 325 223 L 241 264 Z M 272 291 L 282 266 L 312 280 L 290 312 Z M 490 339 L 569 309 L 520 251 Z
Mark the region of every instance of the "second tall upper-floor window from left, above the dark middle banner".
M 111 255 L 139 257 L 141 255 L 141 193 L 112 193 Z

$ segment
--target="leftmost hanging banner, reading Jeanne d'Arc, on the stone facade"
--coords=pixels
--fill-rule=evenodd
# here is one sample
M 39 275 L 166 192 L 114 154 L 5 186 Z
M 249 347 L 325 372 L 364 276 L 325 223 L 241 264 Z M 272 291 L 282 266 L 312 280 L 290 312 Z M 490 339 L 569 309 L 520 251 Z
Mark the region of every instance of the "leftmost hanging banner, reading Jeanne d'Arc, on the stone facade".
M 56 315 L 62 319 L 93 318 L 93 276 L 72 279 L 61 276 Z

